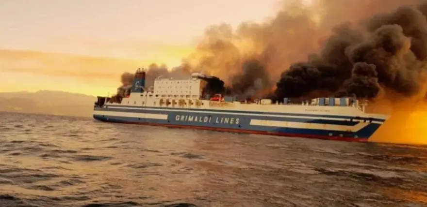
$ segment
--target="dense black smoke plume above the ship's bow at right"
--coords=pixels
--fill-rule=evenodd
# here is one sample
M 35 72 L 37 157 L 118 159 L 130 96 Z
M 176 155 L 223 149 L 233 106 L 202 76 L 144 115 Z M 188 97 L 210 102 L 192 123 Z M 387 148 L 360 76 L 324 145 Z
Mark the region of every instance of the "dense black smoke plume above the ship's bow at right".
M 405 96 L 419 93 L 427 69 L 427 20 L 418 8 L 425 5 L 373 16 L 363 30 L 348 24 L 337 27 L 319 54 L 282 73 L 277 97 L 328 90 L 372 99 L 381 86 Z

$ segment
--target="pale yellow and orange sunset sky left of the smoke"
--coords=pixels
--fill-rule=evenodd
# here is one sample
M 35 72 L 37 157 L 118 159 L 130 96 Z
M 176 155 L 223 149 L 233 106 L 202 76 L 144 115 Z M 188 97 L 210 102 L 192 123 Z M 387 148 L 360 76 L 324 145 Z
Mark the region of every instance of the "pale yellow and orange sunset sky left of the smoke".
M 0 0 L 0 92 L 106 95 L 119 75 L 177 66 L 210 25 L 261 22 L 280 0 Z

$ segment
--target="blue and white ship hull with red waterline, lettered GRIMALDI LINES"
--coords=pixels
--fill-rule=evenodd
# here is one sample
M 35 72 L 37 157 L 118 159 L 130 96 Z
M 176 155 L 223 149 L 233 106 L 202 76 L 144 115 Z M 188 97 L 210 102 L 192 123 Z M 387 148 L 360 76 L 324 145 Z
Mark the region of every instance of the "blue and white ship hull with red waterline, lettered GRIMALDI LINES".
M 100 121 L 115 123 L 353 142 L 367 142 L 385 121 L 381 119 L 355 121 L 352 117 L 345 116 L 175 110 L 154 107 L 95 108 L 93 117 Z

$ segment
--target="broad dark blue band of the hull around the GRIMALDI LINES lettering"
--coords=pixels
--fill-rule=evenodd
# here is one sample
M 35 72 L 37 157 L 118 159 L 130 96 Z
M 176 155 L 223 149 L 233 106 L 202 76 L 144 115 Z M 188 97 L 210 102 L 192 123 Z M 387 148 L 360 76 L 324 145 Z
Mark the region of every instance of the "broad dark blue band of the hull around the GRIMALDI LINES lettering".
M 102 110 L 102 111 L 111 111 Z M 118 109 L 114 110 L 119 112 Z M 122 111 L 122 110 L 120 110 Z M 132 112 L 135 113 L 134 110 Z M 357 138 L 369 138 L 379 127 L 380 124 L 370 123 L 366 127 L 362 128 L 358 132 L 344 132 L 344 131 L 332 131 L 332 130 L 319 130 L 319 129 L 299 129 L 299 128 L 286 128 L 286 127 L 272 127 L 272 126 L 257 126 L 250 125 L 251 119 L 267 119 L 267 117 L 255 117 L 255 116 L 236 116 L 230 114 L 201 114 L 201 113 L 188 113 L 188 112 L 163 112 L 159 111 L 140 111 L 140 113 L 150 113 L 150 114 L 167 114 L 167 119 L 152 119 L 152 118 L 132 118 L 132 117 L 117 117 L 117 116 L 103 116 L 103 115 L 94 115 L 95 119 L 108 122 L 128 122 L 128 123 L 153 123 L 161 125 L 181 125 L 187 127 L 206 127 L 206 128 L 221 128 L 221 129 L 231 129 L 231 130 L 242 130 L 242 131 L 258 131 L 258 132 L 271 132 L 271 133 L 287 133 L 287 134 L 300 134 L 300 136 L 339 136 L 342 134 L 343 137 L 357 137 Z M 193 119 L 188 121 L 188 116 L 198 117 L 201 116 L 201 120 Z M 224 123 L 224 120 L 221 121 L 221 118 L 229 118 L 229 123 Z M 230 123 L 231 118 L 233 123 Z M 275 118 L 272 120 L 280 121 L 296 121 L 307 122 L 301 119 L 293 118 Z M 310 120 L 313 121 L 313 120 Z M 322 120 L 327 121 L 328 124 L 335 124 L 334 120 Z

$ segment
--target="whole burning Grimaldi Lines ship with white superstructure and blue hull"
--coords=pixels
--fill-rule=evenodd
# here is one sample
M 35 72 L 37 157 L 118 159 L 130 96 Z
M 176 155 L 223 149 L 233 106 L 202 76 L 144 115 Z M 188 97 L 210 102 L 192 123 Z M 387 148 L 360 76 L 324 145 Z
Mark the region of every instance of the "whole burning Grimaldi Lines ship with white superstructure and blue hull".
M 186 79 L 158 77 L 146 88 L 138 69 L 132 85 L 112 97 L 98 96 L 93 117 L 100 121 L 192 128 L 234 133 L 270 134 L 366 142 L 389 118 L 365 113 L 366 103 L 353 98 L 316 98 L 295 104 L 284 98 L 239 101 L 221 94 L 205 96 L 212 78 L 193 73 Z

